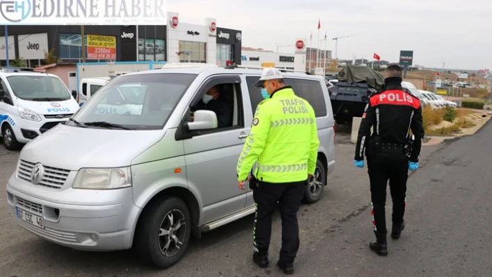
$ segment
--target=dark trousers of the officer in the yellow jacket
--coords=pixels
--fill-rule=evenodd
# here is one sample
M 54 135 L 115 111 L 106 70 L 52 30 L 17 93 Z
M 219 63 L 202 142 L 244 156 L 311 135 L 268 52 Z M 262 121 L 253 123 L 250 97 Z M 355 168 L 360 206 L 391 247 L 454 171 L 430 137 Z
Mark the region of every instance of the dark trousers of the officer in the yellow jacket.
M 256 202 L 256 216 L 253 242 L 258 251 L 268 252 L 272 233 L 272 214 L 278 201 L 282 221 L 280 260 L 294 262 L 300 244 L 297 211 L 304 195 L 304 184 L 305 182 L 260 182 L 259 187 L 254 190 L 253 198 Z

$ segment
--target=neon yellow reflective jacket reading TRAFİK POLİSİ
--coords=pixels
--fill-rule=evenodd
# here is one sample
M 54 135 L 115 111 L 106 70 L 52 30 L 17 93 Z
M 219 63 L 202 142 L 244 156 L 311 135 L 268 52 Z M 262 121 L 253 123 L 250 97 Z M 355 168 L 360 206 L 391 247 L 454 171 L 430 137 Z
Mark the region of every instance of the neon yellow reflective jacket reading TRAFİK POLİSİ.
M 245 181 L 253 174 L 268 183 L 305 181 L 318 158 L 318 128 L 313 107 L 284 87 L 256 108 L 236 171 Z

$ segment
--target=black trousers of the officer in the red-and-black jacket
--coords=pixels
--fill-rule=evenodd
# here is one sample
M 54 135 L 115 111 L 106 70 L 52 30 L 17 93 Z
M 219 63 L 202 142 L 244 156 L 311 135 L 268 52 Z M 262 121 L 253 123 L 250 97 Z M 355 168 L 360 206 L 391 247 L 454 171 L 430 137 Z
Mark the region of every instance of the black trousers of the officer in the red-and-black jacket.
M 372 201 L 372 224 L 377 233 L 386 234 L 386 184 L 389 180 L 393 200 L 393 224 L 402 224 L 407 195 L 408 158 L 403 153 L 376 153 L 368 157 Z

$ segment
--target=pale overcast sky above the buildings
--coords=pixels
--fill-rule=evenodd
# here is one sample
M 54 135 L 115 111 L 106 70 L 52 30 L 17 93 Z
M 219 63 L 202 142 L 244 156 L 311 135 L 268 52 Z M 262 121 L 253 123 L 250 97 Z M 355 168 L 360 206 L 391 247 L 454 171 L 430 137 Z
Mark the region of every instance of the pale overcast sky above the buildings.
M 400 50 L 413 50 L 413 65 L 451 69 L 492 69 L 491 0 L 168 0 L 180 22 L 217 25 L 243 31 L 243 47 L 277 51 L 304 37 L 317 46 L 338 40 L 338 58 L 369 58 L 397 62 Z M 322 49 L 325 41 L 320 42 Z M 279 51 L 293 53 L 294 47 Z

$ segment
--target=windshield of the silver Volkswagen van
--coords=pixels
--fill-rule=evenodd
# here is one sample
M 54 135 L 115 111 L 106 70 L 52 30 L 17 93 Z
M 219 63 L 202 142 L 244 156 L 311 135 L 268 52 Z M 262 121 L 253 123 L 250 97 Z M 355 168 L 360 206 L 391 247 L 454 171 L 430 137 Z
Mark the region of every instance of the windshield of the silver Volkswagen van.
M 70 124 L 161 129 L 196 77 L 197 74 L 172 73 L 119 76 L 101 87 Z

